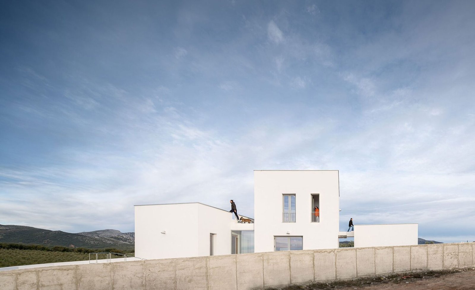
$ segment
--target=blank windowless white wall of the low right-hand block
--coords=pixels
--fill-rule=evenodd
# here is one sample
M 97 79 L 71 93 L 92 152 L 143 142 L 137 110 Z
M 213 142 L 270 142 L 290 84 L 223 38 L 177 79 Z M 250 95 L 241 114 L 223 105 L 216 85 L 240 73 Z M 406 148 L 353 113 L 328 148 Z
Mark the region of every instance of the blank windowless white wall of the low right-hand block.
M 355 247 L 418 244 L 418 224 L 354 225 Z

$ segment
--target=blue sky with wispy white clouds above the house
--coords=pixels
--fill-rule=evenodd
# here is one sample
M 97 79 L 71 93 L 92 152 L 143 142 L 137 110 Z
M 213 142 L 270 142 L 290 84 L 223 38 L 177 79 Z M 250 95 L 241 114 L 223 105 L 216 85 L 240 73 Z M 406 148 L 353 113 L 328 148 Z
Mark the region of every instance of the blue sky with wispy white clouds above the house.
M 2 1 L 0 224 L 254 216 L 253 170 L 339 170 L 340 228 L 475 241 L 474 1 Z M 257 221 L 258 222 L 258 221 Z

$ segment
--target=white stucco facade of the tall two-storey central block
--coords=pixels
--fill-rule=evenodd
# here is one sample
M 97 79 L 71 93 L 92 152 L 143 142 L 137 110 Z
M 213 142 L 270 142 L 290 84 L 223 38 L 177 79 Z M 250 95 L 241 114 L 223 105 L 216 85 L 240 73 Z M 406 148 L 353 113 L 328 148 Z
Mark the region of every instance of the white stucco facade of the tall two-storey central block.
M 295 194 L 295 223 L 282 222 L 284 194 Z M 319 223 L 311 223 L 312 194 Z M 339 201 L 338 170 L 255 170 L 255 252 L 274 251 L 274 236 L 303 236 L 304 250 L 338 248 Z

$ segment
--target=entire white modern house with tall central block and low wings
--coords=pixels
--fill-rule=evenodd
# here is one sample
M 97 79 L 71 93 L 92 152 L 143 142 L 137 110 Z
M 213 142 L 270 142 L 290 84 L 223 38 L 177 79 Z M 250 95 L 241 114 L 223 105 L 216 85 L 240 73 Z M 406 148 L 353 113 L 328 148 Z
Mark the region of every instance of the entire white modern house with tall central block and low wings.
M 201 203 L 135 206 L 135 256 L 179 258 L 234 253 L 418 243 L 417 224 L 355 225 L 339 232 L 338 170 L 255 170 L 256 224 Z M 318 213 L 314 208 L 318 207 Z M 254 221 L 254 219 L 253 219 Z

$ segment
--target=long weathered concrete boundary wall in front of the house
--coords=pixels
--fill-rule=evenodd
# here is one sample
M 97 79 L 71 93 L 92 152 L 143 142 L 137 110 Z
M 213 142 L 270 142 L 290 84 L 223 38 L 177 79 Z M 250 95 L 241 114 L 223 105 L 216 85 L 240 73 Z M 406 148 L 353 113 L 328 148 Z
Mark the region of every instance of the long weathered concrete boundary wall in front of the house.
M 1 290 L 251 290 L 475 266 L 475 243 L 341 248 L 0 272 Z

